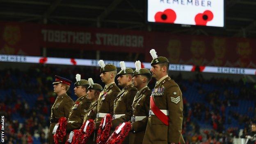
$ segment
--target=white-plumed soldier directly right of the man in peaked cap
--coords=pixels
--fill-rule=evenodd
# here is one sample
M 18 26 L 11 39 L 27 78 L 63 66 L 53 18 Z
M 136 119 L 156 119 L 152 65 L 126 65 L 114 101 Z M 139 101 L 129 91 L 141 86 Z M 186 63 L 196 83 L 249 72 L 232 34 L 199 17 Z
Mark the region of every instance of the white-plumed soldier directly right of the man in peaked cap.
M 91 101 L 87 98 L 87 87 L 89 83 L 87 80 L 81 80 L 81 75 L 76 74 L 75 76 L 75 95 L 78 99 L 71 107 L 69 112 L 69 119 L 66 126 L 67 135 L 72 130 L 79 129 L 82 126 L 82 122 L 85 116 L 84 110 L 87 110 L 91 105 Z

